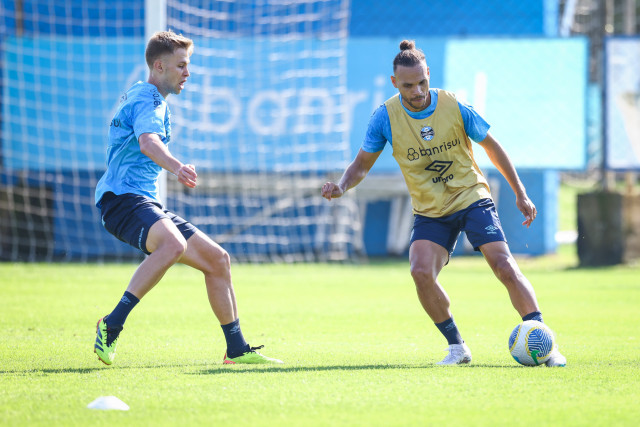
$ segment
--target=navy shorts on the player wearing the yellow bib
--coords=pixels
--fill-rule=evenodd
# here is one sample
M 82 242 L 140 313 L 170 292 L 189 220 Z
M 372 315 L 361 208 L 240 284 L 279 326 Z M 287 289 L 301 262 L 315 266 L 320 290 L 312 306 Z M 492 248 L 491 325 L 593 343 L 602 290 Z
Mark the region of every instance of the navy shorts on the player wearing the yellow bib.
M 430 240 L 453 253 L 460 232 L 467 234 L 473 249 L 490 242 L 506 242 L 498 211 L 491 199 L 482 199 L 448 216 L 430 218 L 415 215 L 411 243 Z

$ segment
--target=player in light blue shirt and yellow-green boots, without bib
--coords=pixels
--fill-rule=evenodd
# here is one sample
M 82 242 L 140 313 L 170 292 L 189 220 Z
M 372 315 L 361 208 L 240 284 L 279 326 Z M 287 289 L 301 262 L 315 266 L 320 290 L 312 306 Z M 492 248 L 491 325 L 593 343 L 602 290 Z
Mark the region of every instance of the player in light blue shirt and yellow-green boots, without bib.
M 134 273 L 114 310 L 98 320 L 94 351 L 113 363 L 118 336 L 131 310 L 175 263 L 204 273 L 207 295 L 227 342 L 223 363 L 282 363 L 245 341 L 231 283 L 229 254 L 195 226 L 165 209 L 158 199 L 162 169 L 195 188 L 195 167 L 171 155 L 170 94 L 180 94 L 189 78 L 193 41 L 172 31 L 155 33 L 145 57 L 147 82 L 122 97 L 109 127 L 107 170 L 95 194 L 102 223 L 118 239 L 148 255 Z

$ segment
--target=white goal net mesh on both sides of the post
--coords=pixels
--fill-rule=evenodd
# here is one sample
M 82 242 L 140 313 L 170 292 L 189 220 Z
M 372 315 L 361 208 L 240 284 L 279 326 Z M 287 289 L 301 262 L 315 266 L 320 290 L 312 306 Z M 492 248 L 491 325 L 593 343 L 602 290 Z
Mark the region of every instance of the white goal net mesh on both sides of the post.
M 346 259 L 354 202 L 320 186 L 350 157 L 348 1 L 171 1 L 194 39 L 191 77 L 169 98 L 171 151 L 199 186 L 169 177 L 167 207 L 246 261 Z M 131 259 L 93 192 L 119 96 L 146 80 L 144 1 L 3 1 L 0 258 Z

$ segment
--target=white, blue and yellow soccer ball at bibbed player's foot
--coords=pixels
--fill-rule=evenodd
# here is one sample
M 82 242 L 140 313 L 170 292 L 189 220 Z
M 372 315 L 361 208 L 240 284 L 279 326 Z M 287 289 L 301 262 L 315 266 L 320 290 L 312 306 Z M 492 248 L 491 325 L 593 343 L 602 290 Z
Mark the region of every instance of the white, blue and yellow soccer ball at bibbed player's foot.
M 537 320 L 522 322 L 509 335 L 509 352 L 521 365 L 543 364 L 551 357 L 555 345 L 553 331 Z

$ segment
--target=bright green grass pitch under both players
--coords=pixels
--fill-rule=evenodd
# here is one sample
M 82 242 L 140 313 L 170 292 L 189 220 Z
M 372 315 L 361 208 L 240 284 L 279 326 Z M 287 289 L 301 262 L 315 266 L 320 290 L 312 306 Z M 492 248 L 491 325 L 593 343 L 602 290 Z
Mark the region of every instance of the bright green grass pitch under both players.
M 519 322 L 478 257 L 441 276 L 474 360 L 439 367 L 446 342 L 406 260 L 235 265 L 245 336 L 281 367 L 220 364 L 222 331 L 183 266 L 136 307 L 107 367 L 95 322 L 135 265 L 0 264 L 0 425 L 596 425 L 640 418 L 640 268 L 576 269 L 572 250 L 520 259 L 566 368 L 507 350 Z M 130 410 L 87 409 L 117 396 Z

